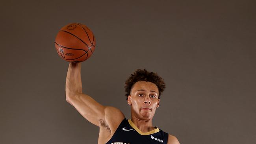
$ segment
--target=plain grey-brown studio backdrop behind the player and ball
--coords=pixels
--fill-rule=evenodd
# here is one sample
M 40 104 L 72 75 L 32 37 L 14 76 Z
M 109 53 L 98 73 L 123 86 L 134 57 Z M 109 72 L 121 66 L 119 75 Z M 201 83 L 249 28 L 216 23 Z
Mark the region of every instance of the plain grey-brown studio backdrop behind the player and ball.
M 70 23 L 95 34 L 83 92 L 130 118 L 124 81 L 137 68 L 167 88 L 154 126 L 181 144 L 256 143 L 256 2 L 2 1 L 1 144 L 96 144 L 98 127 L 65 100 L 68 63 L 54 48 Z

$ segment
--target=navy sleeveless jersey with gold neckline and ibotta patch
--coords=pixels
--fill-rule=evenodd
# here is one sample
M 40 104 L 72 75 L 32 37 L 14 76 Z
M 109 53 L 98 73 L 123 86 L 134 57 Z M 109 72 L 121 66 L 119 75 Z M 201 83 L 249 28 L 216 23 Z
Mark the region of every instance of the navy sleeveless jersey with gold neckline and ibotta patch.
M 158 127 L 155 128 L 143 133 L 132 120 L 124 118 L 113 137 L 106 144 L 167 144 L 169 134 Z

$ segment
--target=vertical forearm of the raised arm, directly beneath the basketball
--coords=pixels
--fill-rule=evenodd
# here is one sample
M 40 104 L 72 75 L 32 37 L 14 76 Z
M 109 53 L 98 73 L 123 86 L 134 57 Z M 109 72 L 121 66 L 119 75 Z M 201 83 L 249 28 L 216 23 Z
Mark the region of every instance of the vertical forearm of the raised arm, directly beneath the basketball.
M 66 99 L 82 94 L 81 63 L 69 63 L 66 78 Z

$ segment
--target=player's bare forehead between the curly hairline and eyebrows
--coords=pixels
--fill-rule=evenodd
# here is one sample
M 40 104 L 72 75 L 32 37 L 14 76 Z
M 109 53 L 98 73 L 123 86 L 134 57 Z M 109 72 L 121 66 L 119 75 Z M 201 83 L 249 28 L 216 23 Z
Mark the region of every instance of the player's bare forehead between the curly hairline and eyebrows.
M 147 82 L 147 81 L 137 81 L 133 86 L 132 86 L 132 91 L 137 91 L 137 90 L 153 90 L 156 91 L 158 93 L 158 88 L 156 86 L 156 84 L 151 83 L 151 82 Z

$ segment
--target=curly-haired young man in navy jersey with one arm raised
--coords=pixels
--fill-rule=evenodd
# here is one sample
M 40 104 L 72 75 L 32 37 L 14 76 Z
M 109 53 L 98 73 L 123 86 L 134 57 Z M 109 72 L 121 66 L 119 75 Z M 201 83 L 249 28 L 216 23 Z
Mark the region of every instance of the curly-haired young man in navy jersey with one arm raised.
M 176 137 L 152 125 L 159 107 L 163 79 L 156 73 L 137 70 L 126 80 L 131 120 L 115 107 L 103 106 L 82 93 L 81 63 L 70 63 L 66 100 L 92 124 L 100 128 L 98 144 L 179 144 Z

